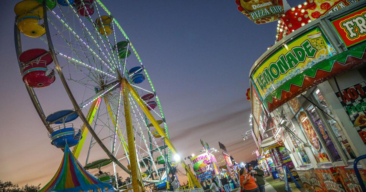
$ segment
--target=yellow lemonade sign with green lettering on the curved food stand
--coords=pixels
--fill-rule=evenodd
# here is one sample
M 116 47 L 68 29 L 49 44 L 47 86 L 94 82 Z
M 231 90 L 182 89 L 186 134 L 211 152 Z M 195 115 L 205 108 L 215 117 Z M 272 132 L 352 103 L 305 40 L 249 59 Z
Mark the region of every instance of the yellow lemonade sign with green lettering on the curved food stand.
M 280 46 L 255 69 L 251 80 L 264 100 L 281 84 L 335 53 L 321 30 L 315 28 Z

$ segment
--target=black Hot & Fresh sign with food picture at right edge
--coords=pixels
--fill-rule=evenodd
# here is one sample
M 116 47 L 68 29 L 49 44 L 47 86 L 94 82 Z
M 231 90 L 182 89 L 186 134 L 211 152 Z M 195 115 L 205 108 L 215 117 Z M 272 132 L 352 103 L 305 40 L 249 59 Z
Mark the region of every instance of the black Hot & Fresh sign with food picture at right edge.
M 336 93 L 352 125 L 366 144 L 366 83 L 363 81 Z

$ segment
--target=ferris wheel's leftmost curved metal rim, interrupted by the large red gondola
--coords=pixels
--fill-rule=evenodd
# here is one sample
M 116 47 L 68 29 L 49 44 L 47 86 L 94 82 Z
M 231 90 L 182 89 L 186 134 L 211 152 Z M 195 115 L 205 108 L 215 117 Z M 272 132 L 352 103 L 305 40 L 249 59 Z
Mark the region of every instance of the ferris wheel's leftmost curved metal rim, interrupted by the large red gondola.
M 22 53 L 22 45 L 21 45 L 21 40 L 20 40 L 20 31 L 18 30 L 18 27 L 16 26 L 16 24 L 14 24 L 14 41 L 15 41 L 15 52 L 16 52 L 16 58 L 19 58 L 19 55 Z M 19 64 L 19 69 L 22 70 L 21 67 L 21 63 L 18 60 L 18 64 Z M 20 71 L 20 74 L 22 74 L 22 71 Z M 27 92 L 29 94 L 30 100 L 32 101 L 34 108 L 36 109 L 38 116 L 40 116 L 42 123 L 45 125 L 47 131 L 49 131 L 50 133 L 53 133 L 53 129 L 51 128 L 51 126 L 49 126 L 49 124 L 46 122 L 46 116 L 43 112 L 43 109 L 41 107 L 40 101 L 37 98 L 36 93 L 34 92 L 34 89 L 32 87 L 29 87 L 26 83 L 24 83 Z

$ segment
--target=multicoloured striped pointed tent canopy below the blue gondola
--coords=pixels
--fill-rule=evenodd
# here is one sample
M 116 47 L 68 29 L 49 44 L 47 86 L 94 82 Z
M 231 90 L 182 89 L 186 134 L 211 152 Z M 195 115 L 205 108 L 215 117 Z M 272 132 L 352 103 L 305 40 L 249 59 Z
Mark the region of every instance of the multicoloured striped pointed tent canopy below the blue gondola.
M 55 176 L 40 190 L 40 192 L 46 191 L 112 192 L 114 189 L 112 185 L 86 172 L 66 145 L 64 157 Z

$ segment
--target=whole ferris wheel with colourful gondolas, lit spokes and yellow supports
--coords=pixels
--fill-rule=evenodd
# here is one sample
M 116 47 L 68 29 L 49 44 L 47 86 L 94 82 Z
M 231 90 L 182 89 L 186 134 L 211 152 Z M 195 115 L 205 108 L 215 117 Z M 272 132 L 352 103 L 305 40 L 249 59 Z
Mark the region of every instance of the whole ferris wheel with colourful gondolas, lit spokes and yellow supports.
M 160 101 L 141 58 L 105 5 L 23 0 L 14 11 L 20 73 L 51 144 L 74 146 L 76 158 L 86 156 L 85 169 L 101 170 L 113 162 L 115 173 L 119 167 L 144 185 L 166 181 L 172 144 Z M 22 50 L 30 38 L 38 43 Z M 55 98 L 53 108 L 61 108 L 50 111 L 38 98 L 61 88 L 70 103 Z M 82 126 L 73 123 L 77 119 Z M 106 157 L 98 158 L 100 148 Z

